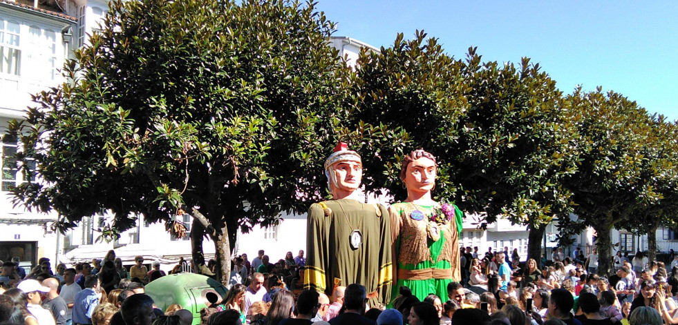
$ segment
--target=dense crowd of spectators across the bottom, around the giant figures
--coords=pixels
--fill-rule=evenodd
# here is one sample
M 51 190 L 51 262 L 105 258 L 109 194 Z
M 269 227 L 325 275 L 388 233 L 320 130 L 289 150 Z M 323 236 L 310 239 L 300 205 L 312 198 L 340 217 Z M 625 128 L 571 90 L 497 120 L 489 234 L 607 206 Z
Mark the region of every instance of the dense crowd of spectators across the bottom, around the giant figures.
M 554 250 L 550 261 L 520 261 L 517 251 L 478 253 L 461 248 L 462 280 L 447 297 L 420 301 L 410 288 L 388 306 L 369 306 L 361 284 L 335 286 L 332 295 L 303 289 L 305 258 L 288 253 L 271 263 L 263 250 L 250 262 L 234 257 L 223 300 L 200 311 L 204 325 L 660 325 L 678 324 L 678 257 L 667 272 L 663 262 L 616 255 L 615 274 L 600 277 L 591 255 L 581 259 Z M 26 325 L 190 325 L 193 314 L 178 304 L 160 311 L 144 286 L 164 276 L 143 257 L 129 270 L 111 251 L 104 259 L 55 272 L 41 259 L 22 274 L 19 261 L 2 264 L 0 322 Z M 638 267 L 639 264 L 642 266 Z M 181 263 L 180 263 L 181 264 Z M 208 266 L 214 270 L 214 262 Z M 597 267 L 594 266 L 594 267 Z M 174 272 L 180 270 L 175 268 Z M 593 271 L 593 272 L 592 272 Z M 25 272 L 23 272 L 25 273 Z

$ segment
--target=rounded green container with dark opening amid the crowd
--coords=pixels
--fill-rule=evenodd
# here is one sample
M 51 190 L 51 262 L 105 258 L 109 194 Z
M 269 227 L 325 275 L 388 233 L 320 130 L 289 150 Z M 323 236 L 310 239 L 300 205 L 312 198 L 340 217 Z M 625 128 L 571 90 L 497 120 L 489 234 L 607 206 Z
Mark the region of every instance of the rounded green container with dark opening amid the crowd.
M 146 286 L 146 294 L 165 311 L 171 304 L 180 304 L 193 313 L 193 325 L 200 324 L 200 309 L 221 302 L 228 290 L 215 279 L 194 273 L 171 274 Z

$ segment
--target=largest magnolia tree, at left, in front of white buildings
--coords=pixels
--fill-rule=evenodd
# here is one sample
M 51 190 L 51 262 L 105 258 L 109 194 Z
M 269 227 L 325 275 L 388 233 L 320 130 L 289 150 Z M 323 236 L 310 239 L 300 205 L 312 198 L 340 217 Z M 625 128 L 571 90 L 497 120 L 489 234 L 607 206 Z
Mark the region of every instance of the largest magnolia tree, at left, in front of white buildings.
M 112 1 L 64 68 L 72 82 L 37 95 L 27 124 L 12 127 L 19 164 L 35 159 L 44 180 L 17 187 L 17 200 L 55 210 L 62 230 L 109 211 L 109 238 L 138 215 L 186 235 L 175 219 L 187 213 L 198 270 L 209 236 L 227 282 L 239 229 L 326 195 L 337 139 L 362 151 L 392 138 L 342 124 L 352 72 L 328 46 L 332 30 L 299 1 Z

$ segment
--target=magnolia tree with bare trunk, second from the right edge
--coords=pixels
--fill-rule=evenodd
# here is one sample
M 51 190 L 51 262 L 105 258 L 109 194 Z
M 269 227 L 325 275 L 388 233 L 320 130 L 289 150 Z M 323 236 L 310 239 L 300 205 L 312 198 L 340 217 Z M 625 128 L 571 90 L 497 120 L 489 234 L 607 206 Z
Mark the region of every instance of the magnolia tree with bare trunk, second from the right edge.
M 578 218 L 561 227 L 596 230 L 598 274 L 608 275 L 612 261 L 610 230 L 634 218 L 640 202 L 659 199 L 643 186 L 643 166 L 652 144 L 652 119 L 646 110 L 616 92 L 576 90 L 569 95 L 571 119 L 578 128 L 578 170 L 566 182 L 574 193 Z

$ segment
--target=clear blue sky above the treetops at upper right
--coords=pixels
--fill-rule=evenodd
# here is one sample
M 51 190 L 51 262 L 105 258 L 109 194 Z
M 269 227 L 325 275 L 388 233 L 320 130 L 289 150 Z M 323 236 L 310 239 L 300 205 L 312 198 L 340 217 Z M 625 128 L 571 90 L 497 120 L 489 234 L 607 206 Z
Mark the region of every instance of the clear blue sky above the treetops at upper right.
M 602 86 L 650 112 L 678 119 L 678 1 L 319 0 L 338 23 L 334 36 L 377 48 L 398 32 L 436 37 L 463 59 L 530 57 L 563 92 Z

